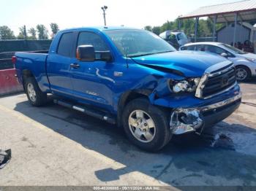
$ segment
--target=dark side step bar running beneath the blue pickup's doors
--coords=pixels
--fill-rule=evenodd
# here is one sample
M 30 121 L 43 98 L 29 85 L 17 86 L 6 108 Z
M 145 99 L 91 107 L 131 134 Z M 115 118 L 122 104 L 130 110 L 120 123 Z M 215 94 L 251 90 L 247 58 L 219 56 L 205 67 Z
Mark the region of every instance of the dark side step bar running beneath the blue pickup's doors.
M 53 99 L 53 103 L 54 104 L 59 104 L 60 106 L 67 107 L 69 109 L 75 109 L 79 112 L 83 112 L 85 114 L 88 114 L 91 117 L 98 118 L 99 120 L 105 120 L 106 122 L 109 122 L 111 124 L 116 124 L 116 120 L 113 117 L 108 116 L 104 112 L 100 112 L 100 111 L 97 111 L 97 110 L 94 110 L 94 109 L 88 109 L 84 106 L 73 105 L 73 104 L 71 104 L 67 101 L 60 101 L 58 99 Z

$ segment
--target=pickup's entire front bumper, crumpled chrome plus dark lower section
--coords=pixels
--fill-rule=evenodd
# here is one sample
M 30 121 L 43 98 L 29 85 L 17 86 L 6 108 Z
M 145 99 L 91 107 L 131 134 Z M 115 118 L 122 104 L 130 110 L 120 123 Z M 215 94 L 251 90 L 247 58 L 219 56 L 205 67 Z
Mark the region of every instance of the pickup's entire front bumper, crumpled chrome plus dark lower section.
M 170 130 L 173 134 L 189 132 L 201 133 L 203 128 L 212 126 L 232 114 L 241 104 L 241 92 L 214 104 L 196 107 L 179 107 L 170 117 Z

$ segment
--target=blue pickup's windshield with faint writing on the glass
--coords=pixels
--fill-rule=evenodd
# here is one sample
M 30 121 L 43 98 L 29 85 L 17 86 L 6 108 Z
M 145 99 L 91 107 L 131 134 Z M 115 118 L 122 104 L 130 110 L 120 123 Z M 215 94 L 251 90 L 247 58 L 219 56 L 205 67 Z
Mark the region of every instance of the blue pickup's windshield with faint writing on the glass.
M 152 55 L 176 51 L 159 36 L 144 30 L 110 30 L 104 31 L 118 50 L 127 57 Z

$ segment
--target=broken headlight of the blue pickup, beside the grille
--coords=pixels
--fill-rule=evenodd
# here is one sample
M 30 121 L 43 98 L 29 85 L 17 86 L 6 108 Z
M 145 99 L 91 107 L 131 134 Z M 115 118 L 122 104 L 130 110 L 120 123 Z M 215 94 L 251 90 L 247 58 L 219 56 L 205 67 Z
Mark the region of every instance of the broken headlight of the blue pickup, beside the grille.
M 197 85 L 200 82 L 200 77 L 183 79 L 181 81 L 170 80 L 170 90 L 173 90 L 175 93 L 181 92 L 195 92 Z

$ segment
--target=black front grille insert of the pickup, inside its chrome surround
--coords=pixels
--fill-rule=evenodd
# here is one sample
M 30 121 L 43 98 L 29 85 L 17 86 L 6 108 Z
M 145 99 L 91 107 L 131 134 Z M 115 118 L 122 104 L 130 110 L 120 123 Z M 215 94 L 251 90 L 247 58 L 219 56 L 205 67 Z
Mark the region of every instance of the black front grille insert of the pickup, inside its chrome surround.
M 202 91 L 203 97 L 208 97 L 222 92 L 236 83 L 236 69 L 230 67 L 222 71 L 209 74 L 205 87 Z

